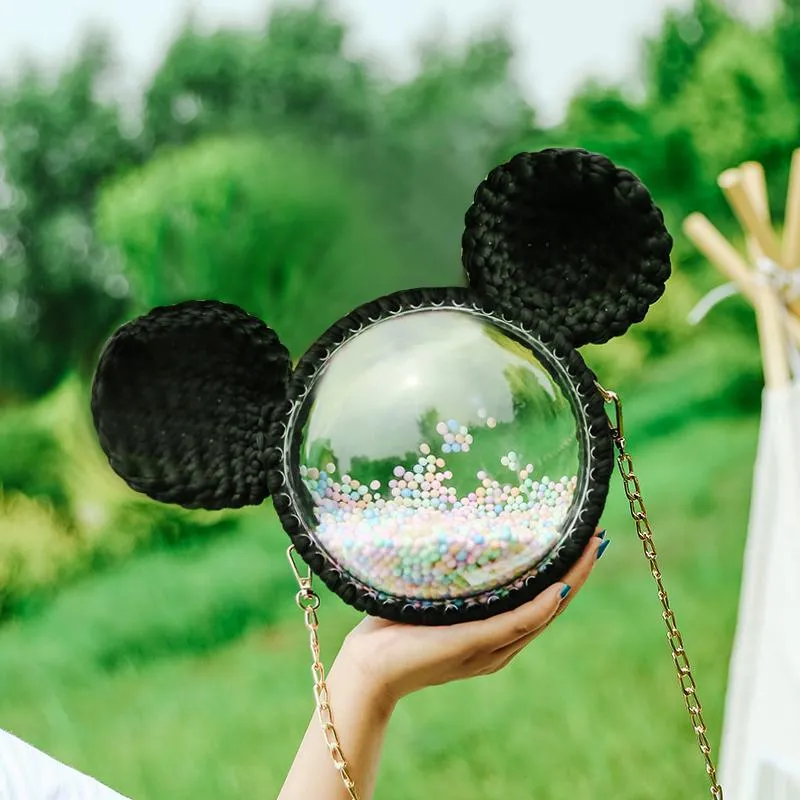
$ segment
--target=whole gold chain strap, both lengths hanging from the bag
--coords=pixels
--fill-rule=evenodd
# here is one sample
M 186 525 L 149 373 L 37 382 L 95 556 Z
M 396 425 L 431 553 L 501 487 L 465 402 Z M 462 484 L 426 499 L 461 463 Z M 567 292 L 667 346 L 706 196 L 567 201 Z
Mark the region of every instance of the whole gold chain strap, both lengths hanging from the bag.
M 722 787 L 717 782 L 717 771 L 711 755 L 711 744 L 706 735 L 708 728 L 703 719 L 703 707 L 697 696 L 697 684 L 692 675 L 692 668 L 689 664 L 689 657 L 686 654 L 686 648 L 683 644 L 683 637 L 678 630 L 675 612 L 669 604 L 667 590 L 664 588 L 664 583 L 661 578 L 661 570 L 658 566 L 658 554 L 656 553 L 656 546 L 653 542 L 653 529 L 650 527 L 650 520 L 647 517 L 647 509 L 642 499 L 639 479 L 633 471 L 633 460 L 625 449 L 624 428 L 622 423 L 622 401 L 614 392 L 609 392 L 600 386 L 599 383 L 595 385 L 606 403 L 614 404 L 616 423 L 610 423 L 611 434 L 618 452 L 617 464 L 620 474 L 622 475 L 625 495 L 628 498 L 631 516 L 636 523 L 636 533 L 642 542 L 645 557 L 650 565 L 650 573 L 658 587 L 658 599 L 661 601 L 661 607 L 663 608 L 661 617 L 664 620 L 664 624 L 667 626 L 667 639 L 670 649 L 672 650 L 672 660 L 678 672 L 678 682 L 683 692 L 686 710 L 689 712 L 692 728 L 697 735 L 697 743 L 705 761 L 706 773 L 708 774 L 708 779 L 711 784 L 711 796 L 714 800 L 723 800 Z M 333 765 L 341 775 L 342 782 L 344 783 L 345 789 L 347 789 L 350 800 L 359 800 L 355 783 L 350 776 L 349 767 L 342 753 L 339 737 L 334 727 L 328 686 L 325 683 L 325 668 L 320 661 L 319 637 L 317 635 L 317 629 L 319 628 L 319 619 L 317 618 L 317 609 L 320 603 L 319 595 L 311 586 L 311 570 L 309 569 L 307 574 L 303 576 L 297 569 L 297 564 L 294 560 L 294 552 L 294 545 L 292 545 L 287 550 L 287 556 L 295 578 L 297 578 L 298 585 L 300 586 L 300 591 L 298 591 L 295 596 L 295 602 L 303 612 L 305 626 L 309 634 L 312 657 L 311 673 L 314 676 L 314 700 L 317 708 L 317 717 L 322 727 L 322 733 L 325 736 L 325 743 L 333 759 Z

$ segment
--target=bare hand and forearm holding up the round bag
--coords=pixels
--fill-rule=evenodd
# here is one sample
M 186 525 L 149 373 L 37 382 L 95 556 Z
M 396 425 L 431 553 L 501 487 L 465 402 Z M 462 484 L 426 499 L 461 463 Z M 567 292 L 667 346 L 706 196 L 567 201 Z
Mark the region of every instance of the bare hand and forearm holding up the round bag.
M 397 701 L 425 686 L 502 669 L 571 602 L 589 577 L 602 535 L 592 537 L 564 580 L 514 611 L 480 622 L 423 628 L 367 617 L 345 639 L 328 694 L 348 774 L 369 800 L 383 739 Z M 278 800 L 347 800 L 319 720 L 311 720 Z

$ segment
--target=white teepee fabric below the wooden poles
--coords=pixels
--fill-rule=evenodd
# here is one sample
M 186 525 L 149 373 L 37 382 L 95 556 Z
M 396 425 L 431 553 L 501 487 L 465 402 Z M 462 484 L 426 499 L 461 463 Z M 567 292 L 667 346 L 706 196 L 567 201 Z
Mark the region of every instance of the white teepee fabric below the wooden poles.
M 725 800 L 800 800 L 800 382 L 764 392 L 720 775 Z

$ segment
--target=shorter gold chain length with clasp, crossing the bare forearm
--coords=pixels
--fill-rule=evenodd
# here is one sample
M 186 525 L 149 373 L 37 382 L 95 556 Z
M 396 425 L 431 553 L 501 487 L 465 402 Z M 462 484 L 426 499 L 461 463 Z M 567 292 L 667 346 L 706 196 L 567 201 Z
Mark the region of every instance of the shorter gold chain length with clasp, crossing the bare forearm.
M 317 719 L 322 727 L 322 734 L 325 737 L 325 744 L 328 745 L 333 766 L 336 767 L 342 777 L 345 789 L 347 789 L 350 800 L 359 800 L 356 785 L 350 777 L 350 770 L 347 766 L 339 736 L 333 724 L 333 711 L 331 710 L 330 697 L 328 695 L 328 685 L 325 682 L 325 667 L 322 665 L 319 653 L 319 619 L 317 609 L 319 608 L 319 595 L 311 586 L 311 570 L 305 576 L 300 574 L 294 560 L 294 545 L 286 551 L 289 563 L 292 565 L 300 591 L 295 595 L 295 602 L 303 612 L 306 630 L 308 630 L 308 642 L 311 647 L 311 674 L 314 676 L 314 702 L 317 707 Z

